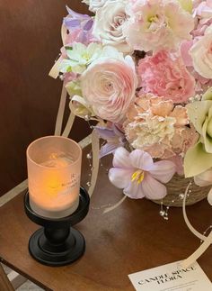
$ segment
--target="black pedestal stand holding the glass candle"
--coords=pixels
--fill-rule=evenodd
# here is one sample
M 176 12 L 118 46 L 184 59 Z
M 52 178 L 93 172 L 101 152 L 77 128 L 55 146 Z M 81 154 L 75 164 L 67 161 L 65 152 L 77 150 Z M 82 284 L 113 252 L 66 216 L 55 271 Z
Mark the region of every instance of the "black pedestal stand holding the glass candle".
M 32 222 L 43 226 L 31 235 L 29 241 L 31 256 L 48 266 L 65 266 L 83 256 L 84 236 L 71 226 L 84 219 L 88 213 L 89 203 L 88 193 L 81 187 L 79 206 L 75 213 L 63 218 L 51 219 L 33 212 L 27 192 L 24 196 L 25 212 Z

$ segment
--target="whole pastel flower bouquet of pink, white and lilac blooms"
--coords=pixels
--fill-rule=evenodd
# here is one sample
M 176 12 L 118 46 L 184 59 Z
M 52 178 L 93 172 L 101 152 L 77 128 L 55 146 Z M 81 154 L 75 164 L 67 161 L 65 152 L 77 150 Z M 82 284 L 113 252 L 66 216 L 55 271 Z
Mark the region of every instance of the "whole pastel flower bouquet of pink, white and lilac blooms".
M 54 68 L 72 114 L 98 122 L 110 182 L 178 205 L 191 178 L 190 203 L 212 205 L 212 0 L 83 2 L 94 16 L 67 8 Z

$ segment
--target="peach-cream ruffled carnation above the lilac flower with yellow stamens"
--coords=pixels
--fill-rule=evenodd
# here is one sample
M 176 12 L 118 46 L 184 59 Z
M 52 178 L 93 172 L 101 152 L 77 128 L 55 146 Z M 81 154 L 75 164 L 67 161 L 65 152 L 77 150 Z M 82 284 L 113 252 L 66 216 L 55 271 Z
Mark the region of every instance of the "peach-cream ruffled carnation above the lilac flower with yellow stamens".
M 124 129 L 135 149 L 147 151 L 153 158 L 168 159 L 188 150 L 193 131 L 186 108 L 173 106 L 171 100 L 155 95 L 141 95 L 130 105 Z

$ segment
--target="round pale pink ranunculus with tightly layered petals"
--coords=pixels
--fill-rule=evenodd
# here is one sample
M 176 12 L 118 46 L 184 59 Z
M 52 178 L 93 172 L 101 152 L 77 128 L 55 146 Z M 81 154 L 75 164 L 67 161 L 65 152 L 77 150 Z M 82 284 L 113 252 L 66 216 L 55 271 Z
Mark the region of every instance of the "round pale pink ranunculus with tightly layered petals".
M 94 114 L 112 123 L 121 123 L 137 89 L 133 60 L 127 56 L 94 61 L 84 71 L 81 87 Z

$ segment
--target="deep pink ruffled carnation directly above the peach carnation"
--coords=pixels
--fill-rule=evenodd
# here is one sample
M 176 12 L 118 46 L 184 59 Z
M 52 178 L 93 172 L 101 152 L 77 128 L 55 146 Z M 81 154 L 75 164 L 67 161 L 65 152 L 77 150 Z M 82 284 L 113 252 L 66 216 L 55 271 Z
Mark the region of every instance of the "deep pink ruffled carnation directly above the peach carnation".
M 145 93 L 163 96 L 173 103 L 187 102 L 195 95 L 195 79 L 177 54 L 162 50 L 140 59 L 138 74 Z

